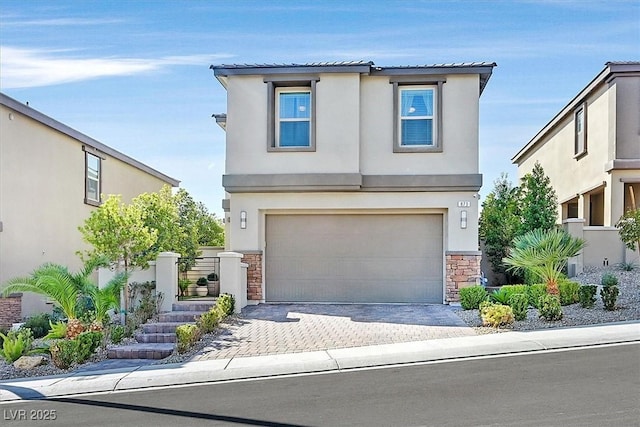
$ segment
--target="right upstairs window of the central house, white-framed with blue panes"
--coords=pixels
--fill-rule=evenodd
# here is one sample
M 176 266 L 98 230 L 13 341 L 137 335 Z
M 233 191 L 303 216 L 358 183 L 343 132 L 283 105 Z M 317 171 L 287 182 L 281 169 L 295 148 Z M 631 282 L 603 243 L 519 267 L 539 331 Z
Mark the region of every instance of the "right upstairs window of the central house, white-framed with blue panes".
M 400 89 L 400 145 L 433 147 L 435 89 Z

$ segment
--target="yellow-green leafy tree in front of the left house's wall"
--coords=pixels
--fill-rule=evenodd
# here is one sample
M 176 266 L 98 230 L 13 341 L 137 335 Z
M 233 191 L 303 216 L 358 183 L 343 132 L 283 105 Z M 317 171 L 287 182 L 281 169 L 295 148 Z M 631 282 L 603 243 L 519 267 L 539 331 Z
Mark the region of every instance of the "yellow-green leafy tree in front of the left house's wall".
M 124 204 L 119 195 L 109 196 L 91 212 L 84 225 L 78 227 L 92 248 L 81 257 L 104 256 L 126 273 L 138 267 L 146 269 L 155 260 L 152 248 L 158 241 L 158 230 L 145 224 L 146 210 L 140 203 Z

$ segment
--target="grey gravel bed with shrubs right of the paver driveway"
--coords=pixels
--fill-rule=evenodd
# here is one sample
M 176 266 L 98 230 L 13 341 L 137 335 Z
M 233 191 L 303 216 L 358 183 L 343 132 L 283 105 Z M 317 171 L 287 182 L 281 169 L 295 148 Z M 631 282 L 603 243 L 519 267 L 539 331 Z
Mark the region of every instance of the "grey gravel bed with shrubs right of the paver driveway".
M 618 277 L 620 294 L 616 303 L 616 309 L 607 311 L 604 309 L 600 298 L 600 279 L 604 273 L 612 273 Z M 640 270 L 624 271 L 616 267 L 585 268 L 585 271 L 572 278 L 581 284 L 598 285 L 596 292 L 596 304 L 593 308 L 582 308 L 580 304 L 565 305 L 562 307 L 562 320 L 550 322 L 539 318 L 538 310 L 530 308 L 525 320 L 516 321 L 504 328 L 492 328 L 482 326 L 478 310 L 456 310 L 456 314 L 469 326 L 474 328 L 477 334 L 494 334 L 508 331 L 530 331 L 534 329 L 560 328 L 565 326 L 593 325 L 598 323 L 624 322 L 640 320 Z

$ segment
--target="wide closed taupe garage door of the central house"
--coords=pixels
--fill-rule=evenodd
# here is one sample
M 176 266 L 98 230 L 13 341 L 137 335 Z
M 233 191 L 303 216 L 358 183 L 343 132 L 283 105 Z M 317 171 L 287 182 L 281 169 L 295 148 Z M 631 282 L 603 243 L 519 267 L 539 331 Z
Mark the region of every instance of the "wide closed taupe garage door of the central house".
M 442 215 L 267 215 L 269 302 L 442 303 Z

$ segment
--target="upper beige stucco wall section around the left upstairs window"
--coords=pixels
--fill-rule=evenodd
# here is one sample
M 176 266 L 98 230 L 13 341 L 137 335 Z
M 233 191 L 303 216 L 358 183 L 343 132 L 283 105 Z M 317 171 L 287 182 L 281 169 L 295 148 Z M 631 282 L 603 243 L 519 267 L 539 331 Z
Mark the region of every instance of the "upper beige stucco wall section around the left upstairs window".
M 358 173 L 359 75 L 321 74 L 316 152 L 267 151 L 267 84 L 234 76 L 227 87 L 227 174 Z M 339 98 L 343 101 L 336 103 Z

